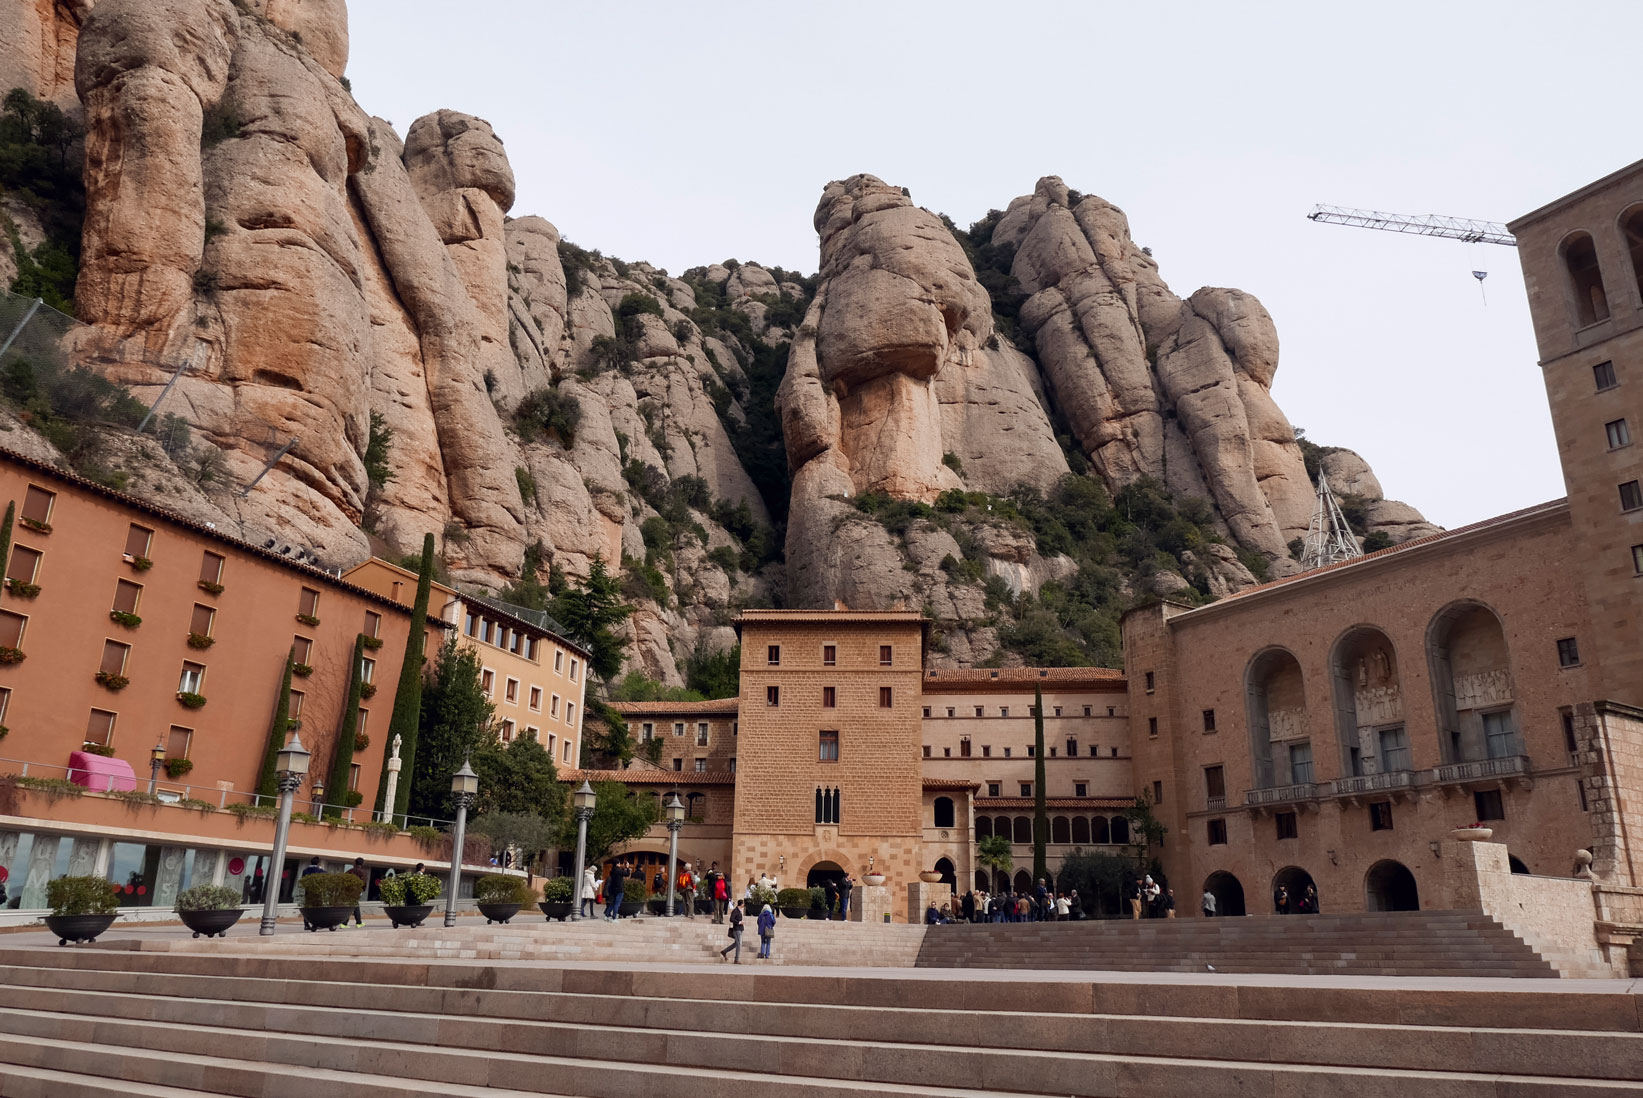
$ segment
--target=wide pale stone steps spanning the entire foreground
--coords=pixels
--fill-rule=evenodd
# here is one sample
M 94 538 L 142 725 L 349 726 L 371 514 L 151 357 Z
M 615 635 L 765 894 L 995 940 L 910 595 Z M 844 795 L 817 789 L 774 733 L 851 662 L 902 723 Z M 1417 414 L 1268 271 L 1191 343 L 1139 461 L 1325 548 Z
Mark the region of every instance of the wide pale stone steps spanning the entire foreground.
M 256 945 L 0 948 L 0 1098 L 1643 1095 L 1643 996 L 1625 981 L 554 967 Z

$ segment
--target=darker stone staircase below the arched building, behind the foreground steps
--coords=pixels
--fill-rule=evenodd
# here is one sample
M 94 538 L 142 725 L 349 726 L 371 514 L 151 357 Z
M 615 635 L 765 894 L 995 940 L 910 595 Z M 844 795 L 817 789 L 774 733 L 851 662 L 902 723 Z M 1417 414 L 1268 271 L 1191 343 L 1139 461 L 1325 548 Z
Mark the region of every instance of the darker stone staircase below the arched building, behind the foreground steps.
M 1487 916 L 1456 911 L 950 924 L 930 927 L 920 968 L 1556 976 Z

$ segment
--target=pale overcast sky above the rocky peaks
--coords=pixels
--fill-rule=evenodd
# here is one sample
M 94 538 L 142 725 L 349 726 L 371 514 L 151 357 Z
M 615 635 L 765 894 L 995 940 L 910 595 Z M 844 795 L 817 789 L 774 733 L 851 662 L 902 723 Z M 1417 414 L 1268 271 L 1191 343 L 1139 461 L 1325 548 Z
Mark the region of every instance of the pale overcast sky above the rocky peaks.
M 513 212 L 583 247 L 808 273 L 830 179 L 968 225 L 1058 174 L 1121 205 L 1183 298 L 1259 296 L 1278 404 L 1390 498 L 1452 528 L 1564 493 L 1516 251 L 1305 214 L 1503 222 L 1631 163 L 1636 0 L 348 8 L 360 104 L 401 135 L 486 118 Z

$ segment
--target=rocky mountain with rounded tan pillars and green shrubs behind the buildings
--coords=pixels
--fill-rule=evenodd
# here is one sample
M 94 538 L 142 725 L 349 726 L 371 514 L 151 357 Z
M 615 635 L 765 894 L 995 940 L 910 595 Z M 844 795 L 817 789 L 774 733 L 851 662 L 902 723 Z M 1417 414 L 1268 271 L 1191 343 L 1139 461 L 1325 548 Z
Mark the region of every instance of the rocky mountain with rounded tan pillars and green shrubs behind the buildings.
M 366 113 L 343 0 L 0 0 L 0 79 L 84 120 L 67 357 L 145 404 L 187 365 L 187 460 L 107 432 L 99 467 L 197 518 L 337 567 L 434 533 L 488 590 L 619 564 L 633 666 L 669 682 L 743 605 L 920 605 L 948 661 L 1111 659 L 1124 600 L 1296 567 L 1272 319 L 1176 298 L 1056 178 L 964 232 L 853 176 L 817 276 L 670 276 L 514 217 L 481 118 Z M 1431 529 L 1349 450 L 1313 460 L 1365 536 Z

